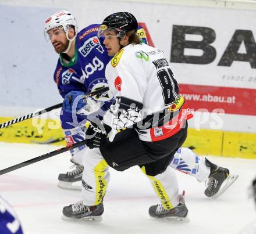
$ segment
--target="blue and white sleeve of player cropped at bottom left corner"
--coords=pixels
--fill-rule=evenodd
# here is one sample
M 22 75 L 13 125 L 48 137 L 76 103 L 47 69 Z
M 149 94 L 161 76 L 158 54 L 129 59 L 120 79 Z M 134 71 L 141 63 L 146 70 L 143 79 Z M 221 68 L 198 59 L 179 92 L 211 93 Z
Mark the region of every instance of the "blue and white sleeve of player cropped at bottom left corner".
M 0 196 L 0 233 L 23 234 L 19 218 L 12 206 Z

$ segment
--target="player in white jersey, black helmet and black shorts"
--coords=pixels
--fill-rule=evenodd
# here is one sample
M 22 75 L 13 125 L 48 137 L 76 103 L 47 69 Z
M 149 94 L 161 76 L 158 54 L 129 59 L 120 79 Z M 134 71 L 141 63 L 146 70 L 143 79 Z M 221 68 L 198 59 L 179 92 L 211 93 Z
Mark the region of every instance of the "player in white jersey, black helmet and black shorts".
M 64 207 L 63 219 L 101 220 L 108 165 L 118 171 L 140 166 L 161 201 L 150 207 L 151 217 L 187 218 L 184 193 L 179 194 L 169 164 L 187 137 L 187 119 L 192 114 L 179 96 L 163 52 L 141 45 L 136 30 L 135 17 L 119 12 L 106 17 L 98 31 L 113 56 L 105 76 L 116 102 L 103 123 L 94 120 L 86 131 L 90 149 L 84 157 L 83 201 Z

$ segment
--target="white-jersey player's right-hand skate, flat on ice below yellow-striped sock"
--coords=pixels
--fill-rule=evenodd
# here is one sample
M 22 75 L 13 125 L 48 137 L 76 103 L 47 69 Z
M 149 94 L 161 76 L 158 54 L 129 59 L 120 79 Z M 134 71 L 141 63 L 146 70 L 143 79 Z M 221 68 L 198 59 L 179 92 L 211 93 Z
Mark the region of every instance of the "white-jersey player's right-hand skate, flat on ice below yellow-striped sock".
M 158 204 L 156 206 L 151 206 L 150 209 L 148 210 L 148 213 L 150 214 L 151 218 L 159 218 L 159 219 L 166 218 L 171 221 L 183 221 L 183 222 L 189 221 L 189 218 L 187 218 L 188 212 L 189 210 L 187 210 L 187 207 L 184 201 L 184 192 L 183 192 L 183 195 L 180 196 L 180 203 L 176 207 L 170 210 L 166 210 L 162 204 Z

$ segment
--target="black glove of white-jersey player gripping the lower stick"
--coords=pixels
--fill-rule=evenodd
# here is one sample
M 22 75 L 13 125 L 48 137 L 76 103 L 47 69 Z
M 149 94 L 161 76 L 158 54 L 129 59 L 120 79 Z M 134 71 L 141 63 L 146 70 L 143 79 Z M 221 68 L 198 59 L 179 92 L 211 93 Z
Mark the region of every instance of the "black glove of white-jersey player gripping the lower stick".
M 86 145 L 90 148 L 98 148 L 106 145 L 106 136 L 111 131 L 109 125 L 99 120 L 92 121 L 86 130 Z

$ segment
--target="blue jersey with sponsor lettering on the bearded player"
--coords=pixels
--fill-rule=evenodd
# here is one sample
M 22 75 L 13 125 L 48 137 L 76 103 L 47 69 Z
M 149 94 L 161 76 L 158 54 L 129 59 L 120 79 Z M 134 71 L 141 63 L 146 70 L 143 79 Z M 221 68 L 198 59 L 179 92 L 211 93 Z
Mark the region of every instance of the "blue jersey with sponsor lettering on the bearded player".
M 97 37 L 99 24 L 92 24 L 81 30 L 76 37 L 76 49 L 69 64 L 63 63 L 60 55 L 54 73 L 62 98 L 70 91 L 91 92 L 106 85 L 105 66 L 108 56 L 103 38 Z

